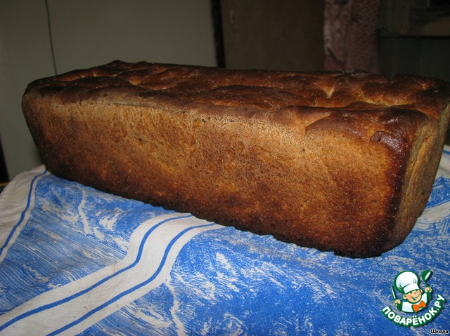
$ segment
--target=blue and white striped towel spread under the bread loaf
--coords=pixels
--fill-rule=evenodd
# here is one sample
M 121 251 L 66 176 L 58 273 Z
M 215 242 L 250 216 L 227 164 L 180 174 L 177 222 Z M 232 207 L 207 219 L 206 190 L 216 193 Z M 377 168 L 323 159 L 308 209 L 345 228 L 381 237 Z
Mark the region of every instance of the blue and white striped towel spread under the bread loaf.
M 450 147 L 406 241 L 364 260 L 122 199 L 41 166 L 0 195 L 0 335 L 430 335 L 450 328 L 449 309 L 432 306 L 450 297 L 449 238 Z M 403 270 L 432 271 L 432 301 L 417 314 L 393 303 Z

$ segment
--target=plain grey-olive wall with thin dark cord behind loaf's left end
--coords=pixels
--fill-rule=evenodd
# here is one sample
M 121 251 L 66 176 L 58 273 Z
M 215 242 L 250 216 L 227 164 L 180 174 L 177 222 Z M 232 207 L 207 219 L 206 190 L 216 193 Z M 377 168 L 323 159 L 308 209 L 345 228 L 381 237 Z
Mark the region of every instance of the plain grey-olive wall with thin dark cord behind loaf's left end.
M 216 65 L 210 1 L 0 1 L 0 140 L 10 179 L 41 163 L 20 107 L 27 83 L 113 60 Z

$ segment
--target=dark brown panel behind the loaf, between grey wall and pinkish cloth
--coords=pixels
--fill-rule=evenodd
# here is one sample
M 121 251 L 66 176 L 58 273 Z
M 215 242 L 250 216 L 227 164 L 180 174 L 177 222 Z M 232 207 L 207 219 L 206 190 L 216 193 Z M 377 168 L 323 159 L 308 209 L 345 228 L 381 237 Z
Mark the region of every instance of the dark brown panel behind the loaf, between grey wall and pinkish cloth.
M 323 69 L 323 0 L 221 0 L 230 69 Z

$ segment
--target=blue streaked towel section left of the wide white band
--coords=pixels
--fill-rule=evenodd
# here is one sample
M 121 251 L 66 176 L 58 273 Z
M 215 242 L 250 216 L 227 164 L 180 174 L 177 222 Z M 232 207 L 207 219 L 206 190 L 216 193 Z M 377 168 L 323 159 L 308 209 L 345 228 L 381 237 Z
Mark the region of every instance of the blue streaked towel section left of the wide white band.
M 11 238 L 1 256 L 0 316 L 32 297 L 117 263 L 141 223 L 162 214 L 176 215 L 41 171 L 29 179 L 22 209 L 27 203 L 28 208 L 17 214 L 15 234 L 8 232 Z M 111 223 L 111 216 L 113 226 L 105 227 L 101 220 Z

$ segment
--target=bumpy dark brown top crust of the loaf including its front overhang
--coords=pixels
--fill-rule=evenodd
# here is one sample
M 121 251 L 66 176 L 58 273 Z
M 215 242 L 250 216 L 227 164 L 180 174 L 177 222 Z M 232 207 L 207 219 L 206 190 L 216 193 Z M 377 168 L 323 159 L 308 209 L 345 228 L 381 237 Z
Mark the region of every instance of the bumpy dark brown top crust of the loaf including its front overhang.
M 308 131 L 333 128 L 368 138 L 376 131 L 397 128 L 397 119 L 405 112 L 416 126 L 425 116 L 438 120 L 450 94 L 444 81 L 407 74 L 388 81 L 353 70 L 266 72 L 121 61 L 40 79 L 29 90 L 50 93 L 62 104 L 94 99 L 105 104 L 169 105 L 184 112 L 278 123 L 292 122 L 290 114 L 300 109 L 321 115 L 311 118 Z

